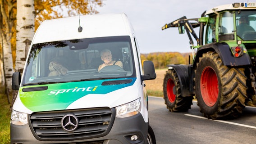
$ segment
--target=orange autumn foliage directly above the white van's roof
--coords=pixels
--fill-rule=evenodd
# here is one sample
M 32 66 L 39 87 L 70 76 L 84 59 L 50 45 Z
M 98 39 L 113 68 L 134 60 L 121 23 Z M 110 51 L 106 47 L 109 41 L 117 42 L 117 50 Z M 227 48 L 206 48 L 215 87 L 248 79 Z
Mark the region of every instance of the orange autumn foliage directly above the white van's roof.
M 35 0 L 35 30 L 46 19 L 97 14 L 101 6 L 102 0 Z

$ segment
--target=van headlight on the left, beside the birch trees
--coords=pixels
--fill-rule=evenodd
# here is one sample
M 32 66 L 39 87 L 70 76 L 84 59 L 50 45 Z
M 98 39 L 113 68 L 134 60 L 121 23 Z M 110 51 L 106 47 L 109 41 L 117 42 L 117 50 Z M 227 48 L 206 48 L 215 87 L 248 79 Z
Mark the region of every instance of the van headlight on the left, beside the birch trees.
M 27 124 L 27 113 L 12 111 L 11 123 L 15 125 Z

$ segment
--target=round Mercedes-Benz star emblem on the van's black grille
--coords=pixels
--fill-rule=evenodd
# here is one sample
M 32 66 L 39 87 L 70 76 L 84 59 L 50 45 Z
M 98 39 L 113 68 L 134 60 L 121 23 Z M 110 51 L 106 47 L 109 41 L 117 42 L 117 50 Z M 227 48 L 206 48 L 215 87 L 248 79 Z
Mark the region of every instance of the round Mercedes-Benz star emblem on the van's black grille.
M 78 118 L 73 114 L 67 114 L 61 119 L 61 126 L 66 131 L 74 131 L 78 127 Z

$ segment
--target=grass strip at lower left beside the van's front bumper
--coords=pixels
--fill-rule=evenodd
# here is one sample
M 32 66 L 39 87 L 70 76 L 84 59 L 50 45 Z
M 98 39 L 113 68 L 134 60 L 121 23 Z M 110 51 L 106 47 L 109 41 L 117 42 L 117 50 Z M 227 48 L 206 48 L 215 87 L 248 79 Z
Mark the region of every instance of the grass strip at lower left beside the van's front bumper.
M 1 144 L 10 144 L 10 104 L 7 96 L 0 94 L 0 142 Z

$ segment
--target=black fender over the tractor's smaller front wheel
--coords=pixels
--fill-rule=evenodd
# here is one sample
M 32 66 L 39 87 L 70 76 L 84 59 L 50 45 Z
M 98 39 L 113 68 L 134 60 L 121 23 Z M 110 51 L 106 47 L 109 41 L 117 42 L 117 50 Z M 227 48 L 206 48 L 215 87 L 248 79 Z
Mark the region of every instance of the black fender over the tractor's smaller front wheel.
M 181 85 L 181 95 L 183 97 L 193 96 L 193 76 L 192 76 L 192 65 L 184 64 L 169 64 L 168 69 L 174 69 L 177 73 L 178 80 Z

